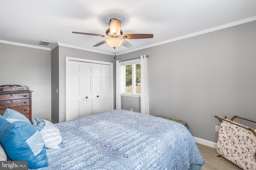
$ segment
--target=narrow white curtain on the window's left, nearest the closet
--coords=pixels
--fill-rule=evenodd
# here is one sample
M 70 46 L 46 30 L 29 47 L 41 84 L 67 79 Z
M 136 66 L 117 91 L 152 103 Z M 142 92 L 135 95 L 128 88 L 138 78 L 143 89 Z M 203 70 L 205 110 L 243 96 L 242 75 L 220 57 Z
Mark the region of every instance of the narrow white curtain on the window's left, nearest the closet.
M 121 61 L 116 61 L 116 109 L 121 109 Z

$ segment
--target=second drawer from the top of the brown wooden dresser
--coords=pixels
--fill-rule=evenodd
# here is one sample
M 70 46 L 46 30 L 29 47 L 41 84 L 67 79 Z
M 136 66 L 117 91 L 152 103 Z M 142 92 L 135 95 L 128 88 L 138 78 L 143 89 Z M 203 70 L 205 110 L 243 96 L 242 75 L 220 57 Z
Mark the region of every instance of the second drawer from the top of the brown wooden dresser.
M 29 99 L 3 100 L 0 101 L 0 109 L 7 109 L 19 106 L 29 106 Z

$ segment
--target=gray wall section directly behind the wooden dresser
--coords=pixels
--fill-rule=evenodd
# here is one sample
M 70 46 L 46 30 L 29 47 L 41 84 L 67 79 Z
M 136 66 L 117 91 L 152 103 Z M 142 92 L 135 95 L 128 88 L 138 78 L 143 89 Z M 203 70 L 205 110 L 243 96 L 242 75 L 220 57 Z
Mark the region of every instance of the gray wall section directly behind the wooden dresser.
M 32 90 L 32 118 L 51 121 L 51 51 L 0 43 L 0 85 Z

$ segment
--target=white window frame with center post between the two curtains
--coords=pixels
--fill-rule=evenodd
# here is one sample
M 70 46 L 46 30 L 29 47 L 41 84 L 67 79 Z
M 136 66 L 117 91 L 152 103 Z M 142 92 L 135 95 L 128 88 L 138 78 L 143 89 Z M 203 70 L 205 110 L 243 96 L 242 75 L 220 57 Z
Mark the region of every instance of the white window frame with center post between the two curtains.
M 126 65 L 132 65 L 132 64 L 140 64 L 140 59 L 123 61 L 123 62 L 121 62 L 121 67 L 126 66 Z M 132 90 L 136 90 L 136 70 L 134 68 L 132 68 L 132 75 L 134 75 L 134 76 L 132 76 L 132 78 L 135 79 L 135 80 L 132 80 Z M 124 76 L 121 78 L 121 81 L 126 79 L 125 75 L 121 75 L 121 76 Z M 125 84 L 123 84 L 121 82 L 121 86 L 125 86 Z M 122 88 L 126 88 L 126 87 L 122 87 Z M 135 93 L 135 92 L 134 93 L 121 92 L 121 96 L 131 96 L 131 97 L 139 97 L 140 98 L 140 94 Z

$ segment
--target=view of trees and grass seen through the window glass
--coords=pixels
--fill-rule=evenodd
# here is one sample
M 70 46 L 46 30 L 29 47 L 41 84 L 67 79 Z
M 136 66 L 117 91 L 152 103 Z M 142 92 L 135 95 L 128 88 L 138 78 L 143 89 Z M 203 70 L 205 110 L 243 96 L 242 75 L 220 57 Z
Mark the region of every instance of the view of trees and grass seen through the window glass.
M 135 71 L 135 74 L 133 71 Z M 141 85 L 140 64 L 126 65 L 125 75 L 126 75 L 126 93 L 140 94 L 140 85 Z M 133 89 L 133 87 L 135 89 Z

